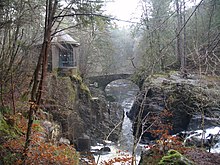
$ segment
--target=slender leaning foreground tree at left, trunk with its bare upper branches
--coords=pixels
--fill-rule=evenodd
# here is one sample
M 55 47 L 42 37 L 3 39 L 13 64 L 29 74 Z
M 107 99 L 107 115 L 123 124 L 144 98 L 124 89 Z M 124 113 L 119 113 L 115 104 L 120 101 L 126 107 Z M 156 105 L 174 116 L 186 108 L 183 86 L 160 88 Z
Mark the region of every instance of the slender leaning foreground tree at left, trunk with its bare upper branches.
M 87 1 L 81 2 L 81 1 L 74 1 L 70 2 L 67 7 L 64 7 L 60 10 L 59 8 L 59 0 L 46 0 L 45 3 L 45 16 L 44 16 L 44 36 L 43 36 L 43 43 L 41 46 L 41 51 L 38 57 L 37 65 L 32 77 L 32 80 L 30 82 L 31 87 L 31 98 L 30 98 L 30 108 L 28 112 L 28 127 L 26 132 L 26 141 L 24 146 L 24 155 L 23 155 L 23 164 L 25 164 L 25 160 L 27 157 L 27 151 L 30 146 L 31 141 L 31 131 L 32 131 L 32 124 L 33 124 L 33 115 L 36 111 L 39 109 L 39 105 L 41 104 L 42 94 L 44 90 L 44 84 L 46 80 L 46 74 L 47 74 L 47 65 L 48 65 L 48 55 L 51 47 L 51 40 L 53 38 L 53 35 L 56 34 L 59 31 L 62 31 L 64 29 L 72 28 L 75 26 L 70 26 L 64 29 L 59 30 L 60 27 L 62 27 L 62 21 L 64 21 L 64 18 L 66 17 L 74 17 L 74 16 L 86 16 L 86 17 L 92 17 L 96 14 L 93 13 L 77 13 L 79 11 L 75 10 L 73 8 L 73 5 L 79 5 L 79 10 L 82 10 L 81 12 L 85 12 L 87 8 Z M 84 5 L 84 6 L 83 6 Z M 71 14 L 69 14 L 71 13 Z M 86 18 L 82 17 L 85 21 Z M 75 18 L 76 20 L 79 18 Z M 75 21 L 76 21 L 75 20 Z M 77 21 L 76 21 L 77 22 Z M 85 21 L 86 22 L 86 21 Z M 85 23 L 83 22 L 83 23 Z M 88 23 L 88 22 L 87 22 Z

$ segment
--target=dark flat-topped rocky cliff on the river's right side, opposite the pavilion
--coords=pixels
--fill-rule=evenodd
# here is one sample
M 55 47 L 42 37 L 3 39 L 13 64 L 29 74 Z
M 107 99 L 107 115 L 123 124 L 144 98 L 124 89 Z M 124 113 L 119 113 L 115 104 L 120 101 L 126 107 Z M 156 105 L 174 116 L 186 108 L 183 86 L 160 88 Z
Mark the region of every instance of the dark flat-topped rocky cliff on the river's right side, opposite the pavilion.
M 195 116 L 200 116 L 200 119 L 212 118 L 212 124 L 216 124 L 220 114 L 219 90 L 219 79 L 214 77 L 189 75 L 183 79 L 177 72 L 149 76 L 127 115 L 134 121 L 134 133 L 137 127 L 143 127 L 144 120 L 144 127 L 148 130 L 161 129 L 162 125 L 171 124 L 172 128 L 168 128 L 171 134 L 187 130 Z M 161 115 L 164 110 L 171 115 Z M 212 116 L 213 114 L 216 116 Z M 137 124 L 138 116 L 142 120 L 140 126 Z M 152 125 L 153 122 L 155 124 Z M 199 124 L 203 124 L 202 120 Z M 154 139 L 149 131 L 143 137 Z

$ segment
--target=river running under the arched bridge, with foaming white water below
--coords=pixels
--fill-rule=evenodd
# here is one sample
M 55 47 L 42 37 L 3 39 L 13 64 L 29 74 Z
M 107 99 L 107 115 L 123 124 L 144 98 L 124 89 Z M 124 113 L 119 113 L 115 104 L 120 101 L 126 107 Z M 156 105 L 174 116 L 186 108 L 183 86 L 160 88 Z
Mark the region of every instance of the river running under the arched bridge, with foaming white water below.
M 105 154 L 95 156 L 96 162 L 98 162 L 98 164 L 102 164 L 102 162 L 114 158 L 131 157 L 131 153 L 132 153 L 131 151 L 133 147 L 132 122 L 126 116 L 126 112 L 128 112 L 131 109 L 132 104 L 135 100 L 135 96 L 138 91 L 139 88 L 135 84 L 127 80 L 117 80 L 110 83 L 106 87 L 105 92 L 107 96 L 112 96 L 115 98 L 115 101 L 118 102 L 123 107 L 125 116 L 122 124 L 122 131 L 120 134 L 119 141 L 117 143 L 108 142 L 107 146 L 111 149 L 111 152 L 107 152 Z M 195 128 L 193 130 L 195 130 Z M 201 130 L 197 130 L 197 131 L 201 132 Z M 220 127 L 207 128 L 206 136 L 214 132 L 216 134 L 216 132 L 219 131 L 220 131 Z M 93 146 L 92 149 L 100 149 L 103 146 L 104 146 L 103 144 L 98 144 L 97 146 Z M 211 151 L 220 153 L 220 142 L 218 142 L 212 148 Z M 140 152 L 141 152 L 141 145 L 139 145 L 136 152 L 137 162 L 140 159 Z M 116 164 L 117 163 L 114 163 L 114 165 Z

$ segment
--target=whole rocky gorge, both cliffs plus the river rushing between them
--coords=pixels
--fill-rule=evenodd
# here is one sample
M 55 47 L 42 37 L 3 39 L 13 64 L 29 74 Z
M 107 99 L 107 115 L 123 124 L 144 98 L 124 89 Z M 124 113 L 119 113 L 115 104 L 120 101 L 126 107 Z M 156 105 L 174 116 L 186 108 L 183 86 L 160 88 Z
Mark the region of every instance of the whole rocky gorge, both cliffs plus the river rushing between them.
M 164 163 L 175 156 L 190 162 L 199 162 L 197 156 L 209 162 L 209 157 L 219 160 L 218 154 L 207 152 L 219 153 L 220 148 L 218 77 L 188 75 L 182 78 L 179 72 L 172 71 L 148 76 L 141 90 L 131 80 L 117 80 L 105 91 L 86 85 L 76 74 L 51 73 L 47 80 L 34 128 L 41 130 L 38 136 L 42 143 L 57 147 L 63 143 L 68 144 L 67 147 L 74 144 L 72 149 L 82 151 L 75 155 L 81 163 L 131 161 L 133 156 L 139 162 L 140 155 L 140 164 L 152 160 L 152 164 Z M 11 121 L 6 114 L 0 119 L 6 123 Z M 25 112 L 18 113 L 16 122 L 21 119 L 25 121 Z M 141 141 L 133 153 L 135 139 L 140 136 Z M 171 140 L 168 144 L 165 138 L 173 137 L 181 137 L 182 142 Z M 90 153 L 91 159 L 84 151 Z M 159 159 L 155 159 L 155 155 L 160 155 Z

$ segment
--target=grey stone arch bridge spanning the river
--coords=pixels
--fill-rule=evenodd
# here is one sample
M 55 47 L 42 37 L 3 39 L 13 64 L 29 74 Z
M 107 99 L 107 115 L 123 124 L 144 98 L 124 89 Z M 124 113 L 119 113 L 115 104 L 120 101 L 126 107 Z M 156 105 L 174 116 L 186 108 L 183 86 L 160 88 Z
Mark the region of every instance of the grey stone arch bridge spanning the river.
M 110 74 L 110 75 L 88 77 L 87 79 L 89 80 L 89 84 L 93 84 L 94 86 L 101 88 L 102 90 L 105 90 L 105 87 L 112 81 L 119 79 L 131 80 L 131 76 L 132 74 Z

